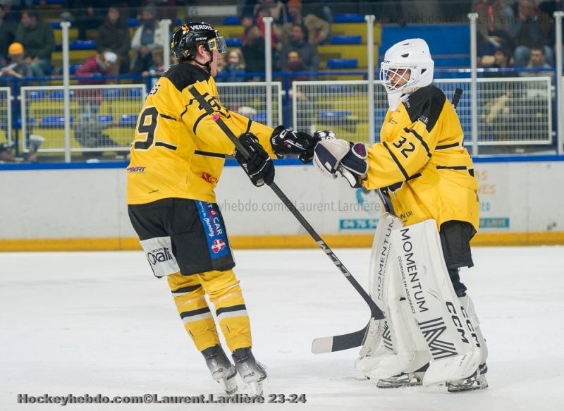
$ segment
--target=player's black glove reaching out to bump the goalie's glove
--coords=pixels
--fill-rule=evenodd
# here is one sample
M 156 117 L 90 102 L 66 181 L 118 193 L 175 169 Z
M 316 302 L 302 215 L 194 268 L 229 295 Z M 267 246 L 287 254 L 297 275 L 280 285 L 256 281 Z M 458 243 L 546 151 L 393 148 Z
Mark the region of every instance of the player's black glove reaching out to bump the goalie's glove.
M 318 140 L 319 141 L 319 140 Z M 286 154 L 298 154 L 303 164 L 312 162 L 315 137 L 301 131 L 293 131 L 278 125 L 270 137 L 270 145 L 276 157 L 283 159 Z

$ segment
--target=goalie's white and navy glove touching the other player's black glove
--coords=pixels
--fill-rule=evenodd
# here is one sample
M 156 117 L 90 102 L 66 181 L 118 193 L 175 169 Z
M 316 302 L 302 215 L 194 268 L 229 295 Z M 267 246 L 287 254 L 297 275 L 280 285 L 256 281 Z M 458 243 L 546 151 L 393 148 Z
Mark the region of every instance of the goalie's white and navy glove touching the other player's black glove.
M 368 152 L 362 142 L 353 144 L 340 139 L 321 140 L 314 149 L 313 163 L 324 176 L 337 178 L 337 172 L 352 188 L 361 188 L 366 178 Z

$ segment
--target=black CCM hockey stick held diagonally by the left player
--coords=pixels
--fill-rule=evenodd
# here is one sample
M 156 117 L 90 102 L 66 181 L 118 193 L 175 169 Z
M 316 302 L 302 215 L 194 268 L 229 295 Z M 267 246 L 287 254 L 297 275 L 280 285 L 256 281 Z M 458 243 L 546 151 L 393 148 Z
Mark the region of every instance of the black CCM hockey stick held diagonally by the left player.
M 226 123 L 223 123 L 223 120 L 221 120 L 219 113 L 214 111 L 214 109 L 212 108 L 212 105 L 209 104 L 209 102 L 207 102 L 207 100 L 204 98 L 204 96 L 202 96 L 202 94 L 200 94 L 200 92 L 196 89 L 196 87 L 194 87 L 194 85 L 191 85 L 190 87 L 188 87 L 188 90 L 190 90 L 190 92 L 195 97 L 197 102 L 200 103 L 200 105 L 202 106 L 204 111 L 206 111 L 207 114 L 212 116 L 212 119 L 216 122 L 217 125 L 219 125 L 219 128 L 221 128 L 221 130 L 223 131 L 223 133 L 225 133 L 225 135 L 228 137 L 228 139 L 231 140 L 231 142 L 233 142 L 233 144 L 235 145 L 235 147 L 237 147 L 237 149 L 241 152 L 241 154 L 243 154 L 243 157 L 245 157 L 245 159 L 250 158 L 250 154 L 249 154 L 249 152 L 247 152 L 247 149 L 245 149 L 245 147 L 240 143 L 238 138 L 235 136 L 235 134 L 233 134 L 233 131 L 231 131 L 231 129 L 228 128 Z M 307 220 L 304 218 L 304 216 L 302 216 L 300 211 L 298 211 L 298 209 L 295 207 L 295 205 L 292 204 L 292 202 L 288 199 L 288 197 L 286 197 L 286 195 L 282 192 L 282 190 L 280 190 L 280 188 L 278 188 L 278 185 L 276 185 L 276 183 L 273 182 L 270 185 L 270 188 L 274 191 L 274 193 L 278 196 L 278 198 L 280 200 L 282 200 L 284 205 L 286 205 L 286 207 L 288 207 L 288 209 L 295 216 L 295 218 L 298 221 L 300 221 L 300 224 L 302 224 L 303 228 L 305 228 L 307 233 L 309 233 L 309 235 L 312 236 L 312 238 L 315 240 L 317 245 L 319 245 L 319 247 L 321 247 L 321 250 L 323 250 L 325 252 L 325 254 L 327 254 L 327 256 L 331 259 L 333 264 L 335 264 L 337 266 L 337 268 L 341 271 L 341 273 L 343 273 L 345 278 L 347 278 L 347 280 L 353 285 L 355 290 L 357 290 L 357 293 L 360 294 L 362 299 L 370 307 L 370 316 L 373 319 L 384 319 L 384 313 L 376 305 L 376 302 L 374 302 L 374 300 L 372 300 L 372 298 L 370 297 L 370 295 L 368 295 L 368 293 L 364 290 L 364 288 L 362 288 L 360 286 L 360 284 L 356 281 L 356 279 L 353 277 L 353 275 L 350 274 L 350 271 L 348 271 L 348 269 L 343 265 L 341 260 L 338 259 L 338 257 L 335 255 L 333 250 L 331 250 L 331 248 L 329 248 L 329 245 L 327 245 L 325 243 L 325 241 L 319 236 L 319 234 L 317 234 L 317 232 L 314 230 L 314 228 L 307 222 Z M 345 334 L 344 336 L 329 337 L 333 341 L 332 347 L 334 346 L 336 348 L 336 349 L 331 349 L 331 351 L 345 350 L 346 348 L 357 347 L 358 345 L 352 345 L 352 346 L 348 347 L 348 345 L 350 345 L 350 342 L 349 342 L 350 338 L 351 338 L 350 336 L 357 336 L 357 334 L 359 334 L 361 332 L 362 332 L 362 336 L 364 336 L 367 329 L 368 329 L 368 326 L 366 326 L 365 329 L 363 329 L 361 331 L 357 331 L 357 332 L 352 333 L 352 334 Z M 357 338 L 354 338 L 354 339 L 356 341 Z M 318 340 L 324 340 L 324 338 L 318 338 Z M 326 342 L 324 342 L 322 344 L 322 346 L 319 348 L 319 350 L 320 350 L 319 352 L 327 352 L 325 346 L 326 346 Z M 346 346 L 346 347 L 345 348 L 337 348 L 337 347 L 341 347 L 341 346 Z M 317 352 L 315 341 L 312 345 L 312 352 Z

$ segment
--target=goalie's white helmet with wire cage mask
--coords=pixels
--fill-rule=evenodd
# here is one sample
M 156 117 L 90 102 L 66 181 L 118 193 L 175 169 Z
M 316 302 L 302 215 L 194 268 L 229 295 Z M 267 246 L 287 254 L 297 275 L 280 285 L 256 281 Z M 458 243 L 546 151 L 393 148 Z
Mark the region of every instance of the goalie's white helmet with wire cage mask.
M 380 65 L 380 81 L 386 87 L 390 109 L 396 110 L 417 87 L 430 85 L 434 68 L 424 39 L 407 39 L 390 47 Z

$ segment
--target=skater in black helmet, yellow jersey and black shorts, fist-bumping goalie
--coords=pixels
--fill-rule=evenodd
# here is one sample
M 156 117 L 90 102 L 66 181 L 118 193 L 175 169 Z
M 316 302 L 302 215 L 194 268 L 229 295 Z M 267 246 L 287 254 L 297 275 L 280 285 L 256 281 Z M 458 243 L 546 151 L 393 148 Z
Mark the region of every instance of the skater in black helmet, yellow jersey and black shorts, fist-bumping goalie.
M 188 23 L 173 34 L 171 66 L 149 92 L 137 120 L 127 168 L 130 221 L 154 275 L 166 276 L 190 338 L 212 377 L 227 393 L 237 372 L 262 395 L 265 367 L 251 351 L 250 321 L 214 189 L 226 155 L 239 161 L 253 184 L 271 184 L 271 157 L 298 154 L 311 162 L 315 139 L 278 126 L 274 130 L 221 105 L 214 75 L 225 39 L 207 23 Z M 245 160 L 195 101 L 207 99 L 251 157 Z M 234 366 L 223 351 L 205 295 L 214 304 Z

